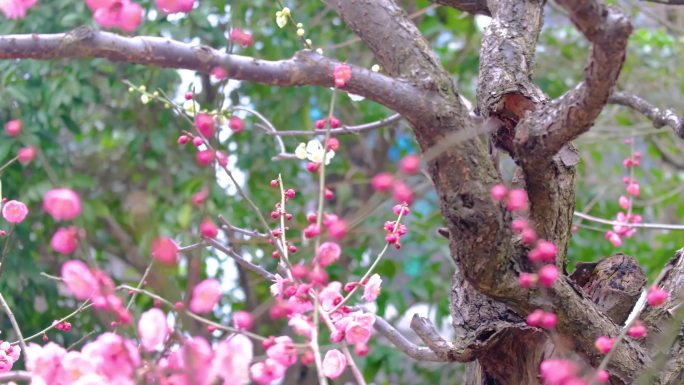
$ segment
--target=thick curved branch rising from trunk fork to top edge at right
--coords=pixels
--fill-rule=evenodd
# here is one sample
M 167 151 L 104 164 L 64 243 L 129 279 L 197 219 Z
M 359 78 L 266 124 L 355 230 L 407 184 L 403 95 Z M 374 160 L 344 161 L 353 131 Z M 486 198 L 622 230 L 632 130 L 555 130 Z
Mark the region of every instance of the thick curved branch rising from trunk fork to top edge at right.
M 556 154 L 594 124 L 620 75 L 632 33 L 632 24 L 624 13 L 598 0 L 557 2 L 592 47 L 584 80 L 541 111 L 540 124 L 516 133 L 518 144 L 540 158 Z

